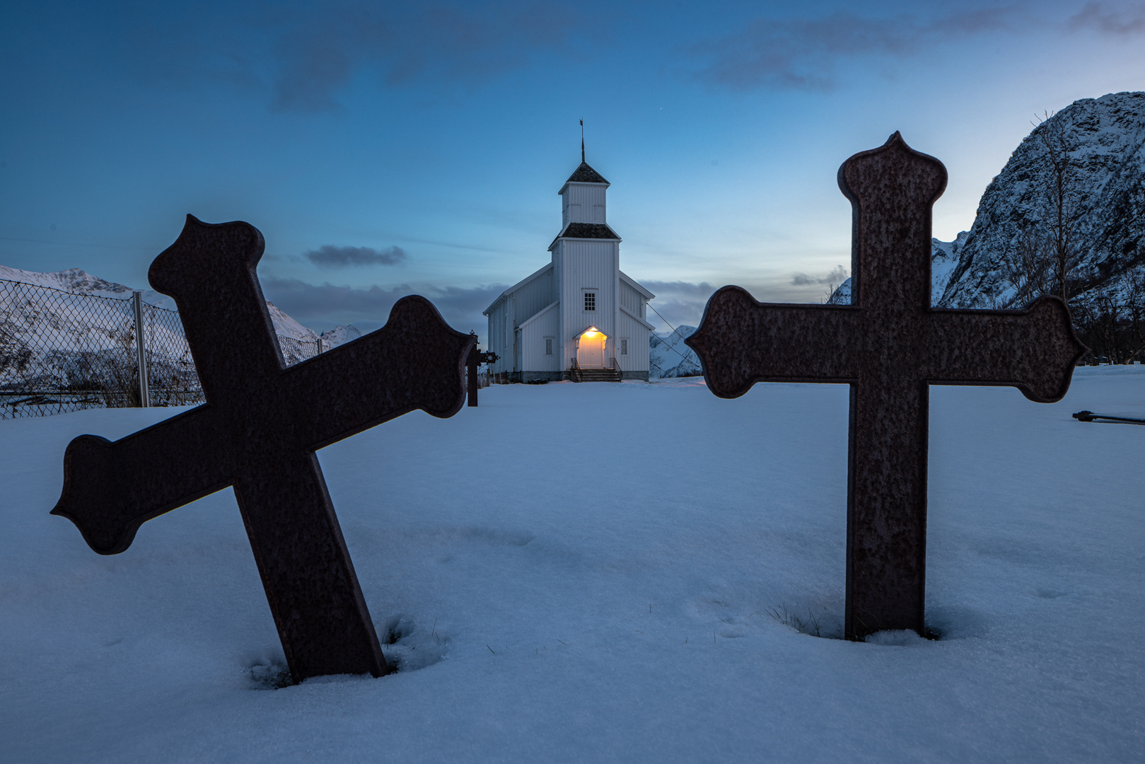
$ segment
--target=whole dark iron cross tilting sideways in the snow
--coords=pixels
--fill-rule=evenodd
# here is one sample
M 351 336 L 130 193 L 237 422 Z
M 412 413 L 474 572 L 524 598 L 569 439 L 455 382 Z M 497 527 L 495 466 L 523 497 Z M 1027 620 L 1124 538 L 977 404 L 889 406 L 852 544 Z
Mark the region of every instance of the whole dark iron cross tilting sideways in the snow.
M 113 443 L 74 439 L 52 513 L 116 554 L 147 520 L 234 486 L 294 680 L 381 676 L 315 450 L 414 409 L 457 413 L 474 339 L 408 297 L 378 331 L 284 369 L 254 271 L 262 250 L 248 223 L 187 216 L 148 277 L 179 305 L 207 402 Z

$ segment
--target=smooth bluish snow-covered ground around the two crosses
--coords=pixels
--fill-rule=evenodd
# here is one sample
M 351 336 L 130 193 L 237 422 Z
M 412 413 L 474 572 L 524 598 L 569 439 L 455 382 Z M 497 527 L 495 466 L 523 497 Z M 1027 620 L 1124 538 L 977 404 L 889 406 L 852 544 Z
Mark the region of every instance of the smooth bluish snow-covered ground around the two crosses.
M 1128 762 L 1145 750 L 1145 368 L 1064 402 L 931 393 L 927 613 L 838 629 L 847 392 L 481 391 L 319 452 L 402 669 L 274 690 L 230 491 L 98 557 L 50 517 L 68 441 L 0 422 L 0 761 Z

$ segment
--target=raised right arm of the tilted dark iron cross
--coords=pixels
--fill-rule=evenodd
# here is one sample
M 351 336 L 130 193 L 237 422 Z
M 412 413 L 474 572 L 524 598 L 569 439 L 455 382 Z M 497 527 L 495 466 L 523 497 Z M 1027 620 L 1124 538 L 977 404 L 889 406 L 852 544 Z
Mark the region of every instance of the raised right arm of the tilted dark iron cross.
M 404 297 L 381 329 L 285 371 L 282 405 L 301 409 L 295 432 L 313 449 L 414 409 L 448 418 L 465 404 L 465 362 L 475 345 L 433 302 Z

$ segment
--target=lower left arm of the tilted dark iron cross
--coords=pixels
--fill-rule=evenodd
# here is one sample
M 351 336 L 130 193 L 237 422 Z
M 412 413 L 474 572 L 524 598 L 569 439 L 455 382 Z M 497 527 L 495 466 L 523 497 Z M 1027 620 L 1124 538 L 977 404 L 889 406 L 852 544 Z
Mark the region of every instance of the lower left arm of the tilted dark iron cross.
M 210 404 L 114 442 L 80 435 L 64 452 L 64 486 L 52 514 L 68 518 L 100 554 L 131 546 L 148 520 L 234 482 L 212 442 Z

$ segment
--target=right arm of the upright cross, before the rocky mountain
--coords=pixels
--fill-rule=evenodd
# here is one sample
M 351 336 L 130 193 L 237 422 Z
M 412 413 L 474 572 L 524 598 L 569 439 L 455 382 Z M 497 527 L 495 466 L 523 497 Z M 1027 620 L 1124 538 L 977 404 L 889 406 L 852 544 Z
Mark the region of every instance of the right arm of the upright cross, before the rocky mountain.
M 1026 310 L 931 309 L 926 323 L 931 384 L 1010 385 L 1039 403 L 1061 400 L 1089 352 L 1056 297 Z

